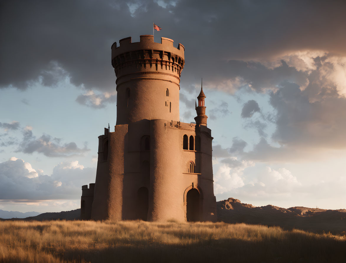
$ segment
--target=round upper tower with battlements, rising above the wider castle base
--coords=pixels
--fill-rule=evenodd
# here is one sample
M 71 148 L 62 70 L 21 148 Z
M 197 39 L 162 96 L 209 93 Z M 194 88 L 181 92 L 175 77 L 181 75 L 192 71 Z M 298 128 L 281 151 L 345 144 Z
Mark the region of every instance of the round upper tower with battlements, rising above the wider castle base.
M 112 66 L 117 76 L 117 125 L 142 119 L 179 120 L 180 74 L 184 46 L 153 35 L 113 43 Z

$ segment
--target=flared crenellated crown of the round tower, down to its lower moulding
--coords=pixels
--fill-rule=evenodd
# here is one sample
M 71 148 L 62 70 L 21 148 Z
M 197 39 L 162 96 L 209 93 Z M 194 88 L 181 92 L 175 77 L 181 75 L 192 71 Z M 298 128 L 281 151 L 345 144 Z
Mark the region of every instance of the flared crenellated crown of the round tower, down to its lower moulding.
M 115 42 L 111 49 L 117 85 L 133 78 L 164 79 L 179 85 L 185 64 L 185 49 L 180 43 L 175 48 L 172 39 L 161 38 L 161 43 L 156 43 L 153 35 L 142 35 L 139 42 L 124 38 L 119 41 L 119 47 Z

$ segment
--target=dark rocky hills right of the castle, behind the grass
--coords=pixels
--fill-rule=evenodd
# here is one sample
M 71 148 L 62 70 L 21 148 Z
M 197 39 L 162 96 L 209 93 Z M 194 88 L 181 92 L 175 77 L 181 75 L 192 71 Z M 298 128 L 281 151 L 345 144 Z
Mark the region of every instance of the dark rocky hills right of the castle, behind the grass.
M 346 209 L 327 210 L 302 206 L 286 209 L 273 205 L 256 207 L 235 198 L 219 201 L 216 205 L 218 220 L 227 223 L 276 225 L 285 229 L 346 235 Z

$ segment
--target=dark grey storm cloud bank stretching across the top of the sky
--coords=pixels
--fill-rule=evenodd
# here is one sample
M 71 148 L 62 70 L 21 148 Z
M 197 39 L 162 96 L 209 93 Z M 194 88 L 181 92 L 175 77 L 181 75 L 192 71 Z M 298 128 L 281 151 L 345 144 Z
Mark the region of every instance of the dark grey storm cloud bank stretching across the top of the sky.
M 163 28 L 160 33 L 185 46 L 182 81 L 187 82 L 203 75 L 210 76 L 209 83 L 223 83 L 236 75 L 246 78 L 246 74 L 258 74 L 261 79 L 261 69 L 250 73 L 254 65 L 238 60 L 287 50 L 345 54 L 346 33 L 340 30 L 346 22 L 343 1 L 176 1 L 162 5 L 166 8 L 154 1 L 2 1 L 0 86 L 25 89 L 36 80 L 54 86 L 68 76 L 76 86 L 112 91 L 111 44 L 127 36 L 138 41 L 139 35 L 152 32 L 153 20 Z M 247 73 L 232 72 L 237 69 Z M 271 84 L 265 77 L 261 83 Z

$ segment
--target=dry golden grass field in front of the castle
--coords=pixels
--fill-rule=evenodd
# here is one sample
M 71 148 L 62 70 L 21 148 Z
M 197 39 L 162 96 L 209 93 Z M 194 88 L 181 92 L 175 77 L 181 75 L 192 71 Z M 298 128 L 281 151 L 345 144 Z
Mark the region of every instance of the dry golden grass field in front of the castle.
M 346 262 L 345 238 L 209 222 L 3 221 L 0 262 Z

